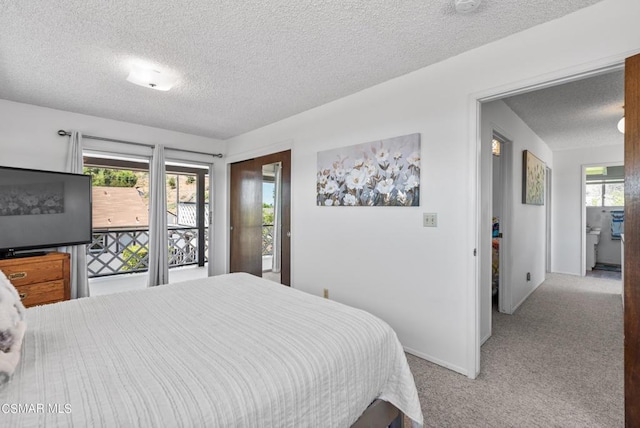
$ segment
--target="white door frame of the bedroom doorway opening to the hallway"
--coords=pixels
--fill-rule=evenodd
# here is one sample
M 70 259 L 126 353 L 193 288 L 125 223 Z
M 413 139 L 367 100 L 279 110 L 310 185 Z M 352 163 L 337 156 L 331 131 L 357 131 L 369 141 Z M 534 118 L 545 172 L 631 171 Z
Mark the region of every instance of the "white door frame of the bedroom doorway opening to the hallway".
M 610 73 L 624 68 L 625 59 L 637 52 L 626 52 L 617 56 L 602 58 L 587 64 L 561 69 L 552 73 L 534 76 L 521 81 L 509 83 L 497 88 L 486 89 L 472 93 L 468 97 L 468 122 L 469 129 L 469 157 L 467 164 L 470 171 L 475 174 L 469 174 L 469 189 L 472 189 L 472 197 L 469 199 L 469 212 L 474 212 L 475 216 L 469 216 L 469 230 L 472 232 L 468 237 L 469 264 L 471 268 L 468 270 L 469 289 L 467 295 L 467 376 L 475 379 L 480 373 L 480 347 L 482 345 L 482 260 L 478 256 L 480 248 L 482 223 L 482 120 L 481 120 L 481 104 L 491 101 L 497 101 L 509 96 L 519 95 L 539 89 L 557 86 L 564 83 L 573 82 L 587 77 L 594 77 L 601 74 Z M 486 150 L 486 148 L 484 149 Z

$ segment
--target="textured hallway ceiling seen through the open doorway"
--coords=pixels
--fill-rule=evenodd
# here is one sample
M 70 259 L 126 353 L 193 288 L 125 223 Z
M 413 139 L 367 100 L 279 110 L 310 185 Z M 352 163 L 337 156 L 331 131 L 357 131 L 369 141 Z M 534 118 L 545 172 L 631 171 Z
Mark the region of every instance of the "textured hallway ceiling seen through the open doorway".
M 624 72 L 553 86 L 503 100 L 551 150 L 624 144 Z

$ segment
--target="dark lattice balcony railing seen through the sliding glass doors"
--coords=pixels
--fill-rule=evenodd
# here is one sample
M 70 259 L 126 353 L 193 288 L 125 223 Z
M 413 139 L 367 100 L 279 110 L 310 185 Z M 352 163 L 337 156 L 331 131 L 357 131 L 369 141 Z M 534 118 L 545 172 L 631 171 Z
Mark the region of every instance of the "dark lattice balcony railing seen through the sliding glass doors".
M 208 233 L 205 229 L 205 260 Z M 169 267 L 198 263 L 198 229 L 171 227 L 167 231 Z M 94 230 L 87 245 L 89 278 L 143 272 L 149 268 L 149 229 Z

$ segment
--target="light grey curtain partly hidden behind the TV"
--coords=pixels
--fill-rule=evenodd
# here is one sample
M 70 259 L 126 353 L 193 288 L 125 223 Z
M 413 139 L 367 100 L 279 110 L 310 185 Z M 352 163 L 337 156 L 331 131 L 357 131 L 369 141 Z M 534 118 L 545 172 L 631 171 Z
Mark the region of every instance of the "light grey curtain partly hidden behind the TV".
M 82 167 L 82 134 L 78 131 L 72 131 L 69 137 L 67 171 L 73 174 L 82 174 Z M 69 246 L 64 251 L 70 254 L 71 259 L 71 298 L 89 297 L 86 245 Z

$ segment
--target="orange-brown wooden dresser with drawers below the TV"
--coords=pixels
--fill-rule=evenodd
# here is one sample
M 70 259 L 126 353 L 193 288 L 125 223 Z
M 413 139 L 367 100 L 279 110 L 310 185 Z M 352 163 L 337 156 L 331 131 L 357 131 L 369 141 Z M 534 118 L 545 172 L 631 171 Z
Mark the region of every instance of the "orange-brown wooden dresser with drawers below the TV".
M 0 260 L 0 270 L 16 287 L 26 307 L 69 300 L 69 254 Z

